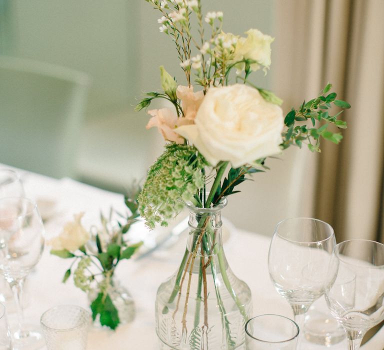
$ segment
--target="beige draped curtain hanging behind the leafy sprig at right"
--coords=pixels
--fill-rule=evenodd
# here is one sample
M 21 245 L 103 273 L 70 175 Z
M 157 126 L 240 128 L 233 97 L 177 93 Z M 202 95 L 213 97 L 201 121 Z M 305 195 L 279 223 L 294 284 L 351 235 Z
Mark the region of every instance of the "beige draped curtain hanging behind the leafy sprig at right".
M 275 9 L 274 89 L 285 107 L 328 81 L 352 105 L 341 144 L 322 142 L 298 165 L 315 174 L 302 177 L 306 205 L 338 241 L 383 240 L 384 1 L 275 0 Z

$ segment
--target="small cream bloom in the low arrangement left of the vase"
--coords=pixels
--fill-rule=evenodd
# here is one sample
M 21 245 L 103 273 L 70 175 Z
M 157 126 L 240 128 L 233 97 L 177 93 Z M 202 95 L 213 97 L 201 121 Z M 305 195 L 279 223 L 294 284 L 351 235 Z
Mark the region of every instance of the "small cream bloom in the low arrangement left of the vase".
M 69 251 L 75 251 L 88 241 L 90 234 L 81 225 L 81 218 L 83 215 L 83 212 L 73 215 L 73 221 L 67 222 L 61 233 L 48 242 L 53 250 L 66 249 Z

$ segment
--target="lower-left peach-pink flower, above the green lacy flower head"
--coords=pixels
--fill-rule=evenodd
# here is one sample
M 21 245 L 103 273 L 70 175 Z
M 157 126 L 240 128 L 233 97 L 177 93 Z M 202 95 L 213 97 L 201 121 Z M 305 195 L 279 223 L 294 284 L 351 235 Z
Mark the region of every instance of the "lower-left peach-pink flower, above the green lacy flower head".
M 148 114 L 152 117 L 145 126 L 147 129 L 156 126 L 165 141 L 174 141 L 178 144 L 184 143 L 184 137 L 174 132 L 174 129 L 177 126 L 187 125 L 191 122 L 182 120 L 184 118 L 181 117 L 178 118 L 169 108 L 151 109 L 148 110 Z

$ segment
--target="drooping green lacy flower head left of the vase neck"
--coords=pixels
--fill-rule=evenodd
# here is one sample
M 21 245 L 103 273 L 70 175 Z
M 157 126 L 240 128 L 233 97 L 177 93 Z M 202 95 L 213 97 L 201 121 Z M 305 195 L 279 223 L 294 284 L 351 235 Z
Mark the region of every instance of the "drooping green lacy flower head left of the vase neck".
M 194 201 L 204 184 L 203 169 L 208 165 L 193 146 L 169 143 L 149 168 L 138 197 L 141 216 L 149 228 L 155 223 L 166 226 L 170 218 Z

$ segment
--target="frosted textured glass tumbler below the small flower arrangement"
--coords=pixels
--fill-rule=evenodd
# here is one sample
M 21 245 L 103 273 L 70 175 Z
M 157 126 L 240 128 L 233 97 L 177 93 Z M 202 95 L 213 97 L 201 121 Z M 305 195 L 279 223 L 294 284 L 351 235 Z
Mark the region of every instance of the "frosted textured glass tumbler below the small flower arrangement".
M 40 323 L 48 350 L 85 350 L 90 314 L 82 307 L 52 307 L 41 315 Z

